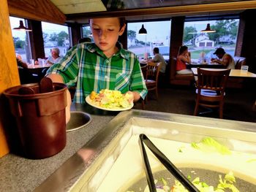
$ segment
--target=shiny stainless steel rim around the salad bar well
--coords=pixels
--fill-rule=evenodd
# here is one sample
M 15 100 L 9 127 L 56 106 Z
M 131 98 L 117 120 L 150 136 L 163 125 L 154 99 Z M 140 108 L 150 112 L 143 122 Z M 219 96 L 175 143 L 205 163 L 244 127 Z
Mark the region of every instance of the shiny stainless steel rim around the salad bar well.
M 121 112 L 48 177 L 48 180 L 39 185 L 36 191 L 96 191 L 132 132 L 139 134 L 146 130 L 150 135 L 170 139 L 177 137 L 177 130 L 173 129 L 177 125 L 178 133 L 182 134 L 178 138 L 184 142 L 191 142 L 205 135 L 220 137 L 224 142 L 226 138 L 254 142 L 256 135 L 255 123 L 141 110 Z M 136 128 L 132 129 L 131 126 Z M 197 134 L 193 134 L 194 132 Z M 241 134 L 242 132 L 246 134 Z M 193 137 L 187 137 L 187 134 L 193 134 Z

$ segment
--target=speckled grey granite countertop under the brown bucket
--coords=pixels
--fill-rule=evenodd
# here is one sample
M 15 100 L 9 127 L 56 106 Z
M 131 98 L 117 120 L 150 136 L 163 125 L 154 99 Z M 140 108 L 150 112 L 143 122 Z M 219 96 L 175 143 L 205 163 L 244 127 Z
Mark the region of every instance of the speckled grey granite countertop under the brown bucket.
M 118 112 L 97 110 L 87 104 L 73 104 L 72 110 L 89 113 L 92 118 L 91 123 L 78 130 L 67 132 L 66 147 L 50 158 L 32 160 L 13 153 L 0 158 L 0 191 L 34 191 L 118 114 Z

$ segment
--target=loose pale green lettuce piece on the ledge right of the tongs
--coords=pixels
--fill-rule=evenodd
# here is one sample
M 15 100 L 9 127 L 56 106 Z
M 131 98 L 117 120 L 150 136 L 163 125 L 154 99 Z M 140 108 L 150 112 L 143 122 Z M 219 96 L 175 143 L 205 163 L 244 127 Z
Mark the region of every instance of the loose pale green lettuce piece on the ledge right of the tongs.
M 198 143 L 192 142 L 191 146 L 197 150 L 203 150 L 205 152 L 218 152 L 222 155 L 231 154 L 231 151 L 227 147 L 221 145 L 219 142 L 212 139 L 211 137 L 205 137 L 201 140 L 201 142 Z

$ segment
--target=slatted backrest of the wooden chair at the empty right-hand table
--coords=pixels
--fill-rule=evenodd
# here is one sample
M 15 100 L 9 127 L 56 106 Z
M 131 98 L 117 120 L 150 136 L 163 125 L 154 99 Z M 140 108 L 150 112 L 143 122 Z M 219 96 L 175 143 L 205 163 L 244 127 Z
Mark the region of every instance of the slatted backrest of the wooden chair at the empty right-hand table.
M 227 85 L 227 79 L 230 69 L 212 71 L 200 69 L 197 67 L 197 89 L 198 93 L 203 90 L 217 91 L 219 95 L 223 95 Z

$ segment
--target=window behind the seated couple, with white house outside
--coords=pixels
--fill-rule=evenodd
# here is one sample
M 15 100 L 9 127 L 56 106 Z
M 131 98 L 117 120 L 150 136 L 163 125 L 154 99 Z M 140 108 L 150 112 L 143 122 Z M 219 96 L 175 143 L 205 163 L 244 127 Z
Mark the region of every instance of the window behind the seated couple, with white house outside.
M 210 23 L 211 29 L 216 32 L 201 32 L 206 29 L 207 23 Z M 192 61 L 209 61 L 216 58 L 213 53 L 217 47 L 222 47 L 226 53 L 234 56 L 238 23 L 238 19 L 185 22 L 183 44 L 189 47 Z

